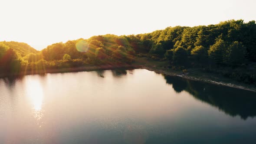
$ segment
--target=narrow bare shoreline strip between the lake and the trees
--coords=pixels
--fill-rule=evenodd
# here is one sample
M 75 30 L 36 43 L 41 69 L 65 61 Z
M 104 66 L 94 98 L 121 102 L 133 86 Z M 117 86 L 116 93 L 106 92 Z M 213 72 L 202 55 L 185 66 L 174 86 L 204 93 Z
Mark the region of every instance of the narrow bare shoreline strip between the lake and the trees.
M 34 72 L 34 71 L 20 72 L 18 74 L 14 74 L 14 75 L 0 73 L 0 78 L 10 77 L 10 76 L 23 76 L 23 75 L 40 75 L 40 74 L 43 75 L 46 73 L 85 72 L 85 71 L 90 72 L 90 71 L 97 71 L 97 70 L 112 70 L 112 69 L 147 69 L 149 71 L 161 73 L 164 75 L 176 76 L 178 74 L 174 70 L 159 68 L 156 66 L 128 65 L 127 64 L 127 65 L 98 65 L 98 66 L 81 66 L 81 67 L 75 67 L 75 68 L 46 69 L 43 71 L 41 70 L 41 71 L 36 71 L 36 72 Z M 237 85 L 237 84 L 227 83 L 227 82 L 218 82 L 218 81 L 214 81 L 212 79 L 207 79 L 207 78 L 202 79 L 202 78 L 197 78 L 195 76 L 190 76 L 190 75 L 186 75 L 181 78 L 256 92 L 256 88 L 248 88 L 248 87 L 243 86 L 242 84 Z

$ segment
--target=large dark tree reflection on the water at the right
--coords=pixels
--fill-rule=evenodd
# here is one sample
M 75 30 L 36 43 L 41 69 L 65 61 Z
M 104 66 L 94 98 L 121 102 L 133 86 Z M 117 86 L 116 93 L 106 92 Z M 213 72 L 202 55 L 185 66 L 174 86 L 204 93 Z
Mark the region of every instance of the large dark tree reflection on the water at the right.
M 256 93 L 237 88 L 164 76 L 176 92 L 189 92 L 194 98 L 207 102 L 231 116 L 239 115 L 246 120 L 256 116 Z

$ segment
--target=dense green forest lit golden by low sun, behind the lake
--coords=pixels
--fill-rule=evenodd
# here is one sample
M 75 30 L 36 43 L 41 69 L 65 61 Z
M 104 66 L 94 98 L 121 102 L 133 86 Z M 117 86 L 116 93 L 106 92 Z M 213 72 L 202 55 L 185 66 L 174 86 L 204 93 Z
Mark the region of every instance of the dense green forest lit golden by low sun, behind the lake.
M 136 57 L 168 61 L 169 69 L 201 69 L 256 84 L 256 23 L 228 20 L 208 26 L 175 26 L 152 33 L 54 43 L 36 51 L 26 43 L 0 42 L 1 72 L 132 64 Z

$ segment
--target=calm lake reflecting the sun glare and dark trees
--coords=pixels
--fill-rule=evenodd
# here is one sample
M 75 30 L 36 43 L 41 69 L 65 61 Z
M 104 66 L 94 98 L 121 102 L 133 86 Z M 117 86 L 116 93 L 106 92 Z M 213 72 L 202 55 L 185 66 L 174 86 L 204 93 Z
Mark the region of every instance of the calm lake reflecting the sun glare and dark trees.
M 255 144 L 256 93 L 145 69 L 0 79 L 0 144 Z

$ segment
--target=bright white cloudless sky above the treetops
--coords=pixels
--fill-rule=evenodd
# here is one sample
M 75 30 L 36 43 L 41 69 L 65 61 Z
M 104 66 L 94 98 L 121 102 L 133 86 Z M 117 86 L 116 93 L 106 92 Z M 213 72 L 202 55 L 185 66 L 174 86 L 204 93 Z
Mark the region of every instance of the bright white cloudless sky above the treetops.
M 256 20 L 256 0 L 1 0 L 0 41 L 35 49 L 107 33 Z

